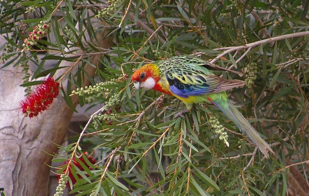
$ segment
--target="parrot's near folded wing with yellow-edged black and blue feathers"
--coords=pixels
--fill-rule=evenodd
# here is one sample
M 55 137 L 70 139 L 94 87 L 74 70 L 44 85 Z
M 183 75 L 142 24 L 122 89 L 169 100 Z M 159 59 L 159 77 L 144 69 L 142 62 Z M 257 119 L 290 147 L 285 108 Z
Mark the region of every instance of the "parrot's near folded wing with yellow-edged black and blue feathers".
M 170 69 L 166 78 L 172 93 L 180 97 L 206 95 L 226 91 L 246 84 L 240 80 L 226 80 L 211 74 L 205 74 L 200 69 Z

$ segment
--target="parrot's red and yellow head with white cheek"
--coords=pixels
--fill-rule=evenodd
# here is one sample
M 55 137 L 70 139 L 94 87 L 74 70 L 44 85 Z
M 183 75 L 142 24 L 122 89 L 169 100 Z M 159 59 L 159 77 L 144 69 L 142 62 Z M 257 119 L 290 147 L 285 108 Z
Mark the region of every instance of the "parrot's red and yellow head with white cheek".
M 146 64 L 133 73 L 132 81 L 136 89 L 152 89 L 160 80 L 160 72 L 155 64 Z

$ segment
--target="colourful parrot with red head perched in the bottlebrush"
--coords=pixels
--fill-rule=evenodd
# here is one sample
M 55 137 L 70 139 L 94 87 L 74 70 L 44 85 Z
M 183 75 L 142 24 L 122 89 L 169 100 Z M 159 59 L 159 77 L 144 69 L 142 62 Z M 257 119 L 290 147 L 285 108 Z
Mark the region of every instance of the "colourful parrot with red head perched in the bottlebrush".
M 213 103 L 246 133 L 268 158 L 268 151 L 274 153 L 273 150 L 227 98 L 225 92 L 243 86 L 246 82 L 220 78 L 211 70 L 231 71 L 195 57 L 175 56 L 156 64 L 142 66 L 133 73 L 132 81 L 136 89 L 158 90 L 184 102 L 186 108 L 175 117 L 190 111 L 195 103 Z

